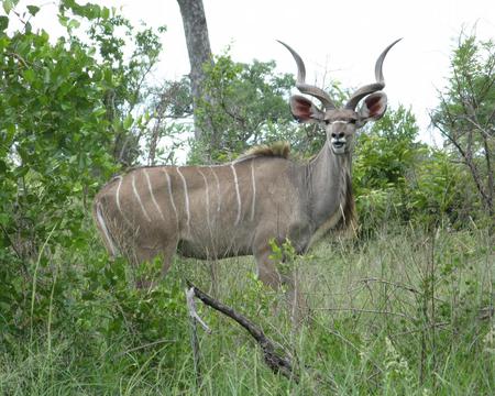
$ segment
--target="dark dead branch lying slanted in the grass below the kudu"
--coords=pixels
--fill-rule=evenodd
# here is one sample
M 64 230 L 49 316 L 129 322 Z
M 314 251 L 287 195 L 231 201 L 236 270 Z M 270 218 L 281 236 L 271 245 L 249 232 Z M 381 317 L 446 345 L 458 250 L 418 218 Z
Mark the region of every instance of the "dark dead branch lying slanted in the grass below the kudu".
M 288 354 L 286 353 L 285 356 L 278 355 L 275 352 L 277 348 L 276 344 L 265 336 L 265 333 L 263 332 L 262 329 L 260 329 L 258 326 L 253 323 L 251 320 L 249 320 L 241 314 L 238 314 L 232 308 L 211 298 L 210 296 L 198 289 L 189 280 L 186 280 L 186 283 L 190 289 L 194 289 L 195 296 L 198 297 L 202 302 L 222 312 L 223 315 L 227 315 L 229 318 L 235 320 L 239 324 L 241 324 L 244 329 L 246 329 L 250 332 L 250 334 L 254 338 L 254 340 L 256 340 L 256 342 L 261 346 L 265 359 L 265 363 L 274 373 L 276 374 L 280 373 L 285 377 L 293 380 L 296 383 L 299 382 L 299 376 L 294 373 L 293 363 L 290 361 L 290 358 L 288 358 Z

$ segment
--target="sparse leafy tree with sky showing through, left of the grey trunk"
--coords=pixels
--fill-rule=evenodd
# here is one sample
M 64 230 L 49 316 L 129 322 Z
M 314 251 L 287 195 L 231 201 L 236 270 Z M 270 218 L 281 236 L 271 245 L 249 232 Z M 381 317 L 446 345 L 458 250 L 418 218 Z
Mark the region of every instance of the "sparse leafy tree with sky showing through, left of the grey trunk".
M 141 143 L 148 125 L 155 122 L 155 109 L 150 97 L 155 90 L 147 76 L 162 52 L 160 33 L 142 26 L 136 30 L 125 18 L 105 7 L 64 0 L 59 21 L 67 28 L 69 40 L 99 57 L 98 64 L 111 73 L 112 86 L 103 95 L 107 118 L 114 136 L 111 153 L 117 163 L 130 167 L 141 156 Z M 79 29 L 87 19 L 89 28 Z M 132 52 L 127 53 L 128 48 Z

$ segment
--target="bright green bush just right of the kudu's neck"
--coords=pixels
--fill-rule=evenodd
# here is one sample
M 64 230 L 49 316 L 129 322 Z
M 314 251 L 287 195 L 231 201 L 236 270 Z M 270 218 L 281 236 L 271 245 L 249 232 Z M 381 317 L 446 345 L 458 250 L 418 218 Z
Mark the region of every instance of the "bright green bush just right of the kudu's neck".
M 399 107 L 358 139 L 353 187 L 364 231 L 391 219 L 410 220 L 410 179 L 427 147 L 416 143 L 418 127 L 410 110 Z

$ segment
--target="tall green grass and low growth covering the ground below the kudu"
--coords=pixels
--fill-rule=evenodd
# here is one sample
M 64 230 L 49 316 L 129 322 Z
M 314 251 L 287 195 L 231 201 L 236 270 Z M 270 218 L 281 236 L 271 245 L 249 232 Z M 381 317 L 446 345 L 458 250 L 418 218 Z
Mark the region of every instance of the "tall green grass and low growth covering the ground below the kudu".
M 3 333 L 0 393 L 493 395 L 495 321 L 486 309 L 493 308 L 493 245 L 483 230 L 413 228 L 321 242 L 290 264 L 308 306 L 298 328 L 284 294 L 253 276 L 252 257 L 176 258 L 163 284 L 142 293 L 129 287 L 124 263 L 89 261 L 95 253 L 88 252 L 72 258 L 72 271 L 57 263 L 52 278 L 48 271 L 37 274 L 38 296 L 25 314 L 33 338 Z M 243 329 L 199 301 L 212 333 L 198 330 L 198 383 L 185 277 L 288 350 L 300 383 L 274 375 Z

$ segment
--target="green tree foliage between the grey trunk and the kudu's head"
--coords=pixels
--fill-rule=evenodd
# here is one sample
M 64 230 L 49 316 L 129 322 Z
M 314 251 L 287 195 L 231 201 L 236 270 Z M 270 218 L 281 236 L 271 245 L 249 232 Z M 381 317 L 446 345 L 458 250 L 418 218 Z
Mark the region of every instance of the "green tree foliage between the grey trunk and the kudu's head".
M 208 100 L 198 103 L 197 118 L 207 128 L 191 158 L 206 154 L 222 162 L 253 144 L 279 140 L 278 131 L 290 128 L 287 100 L 294 78 L 274 73 L 274 62 L 241 64 L 226 54 L 205 68 Z

